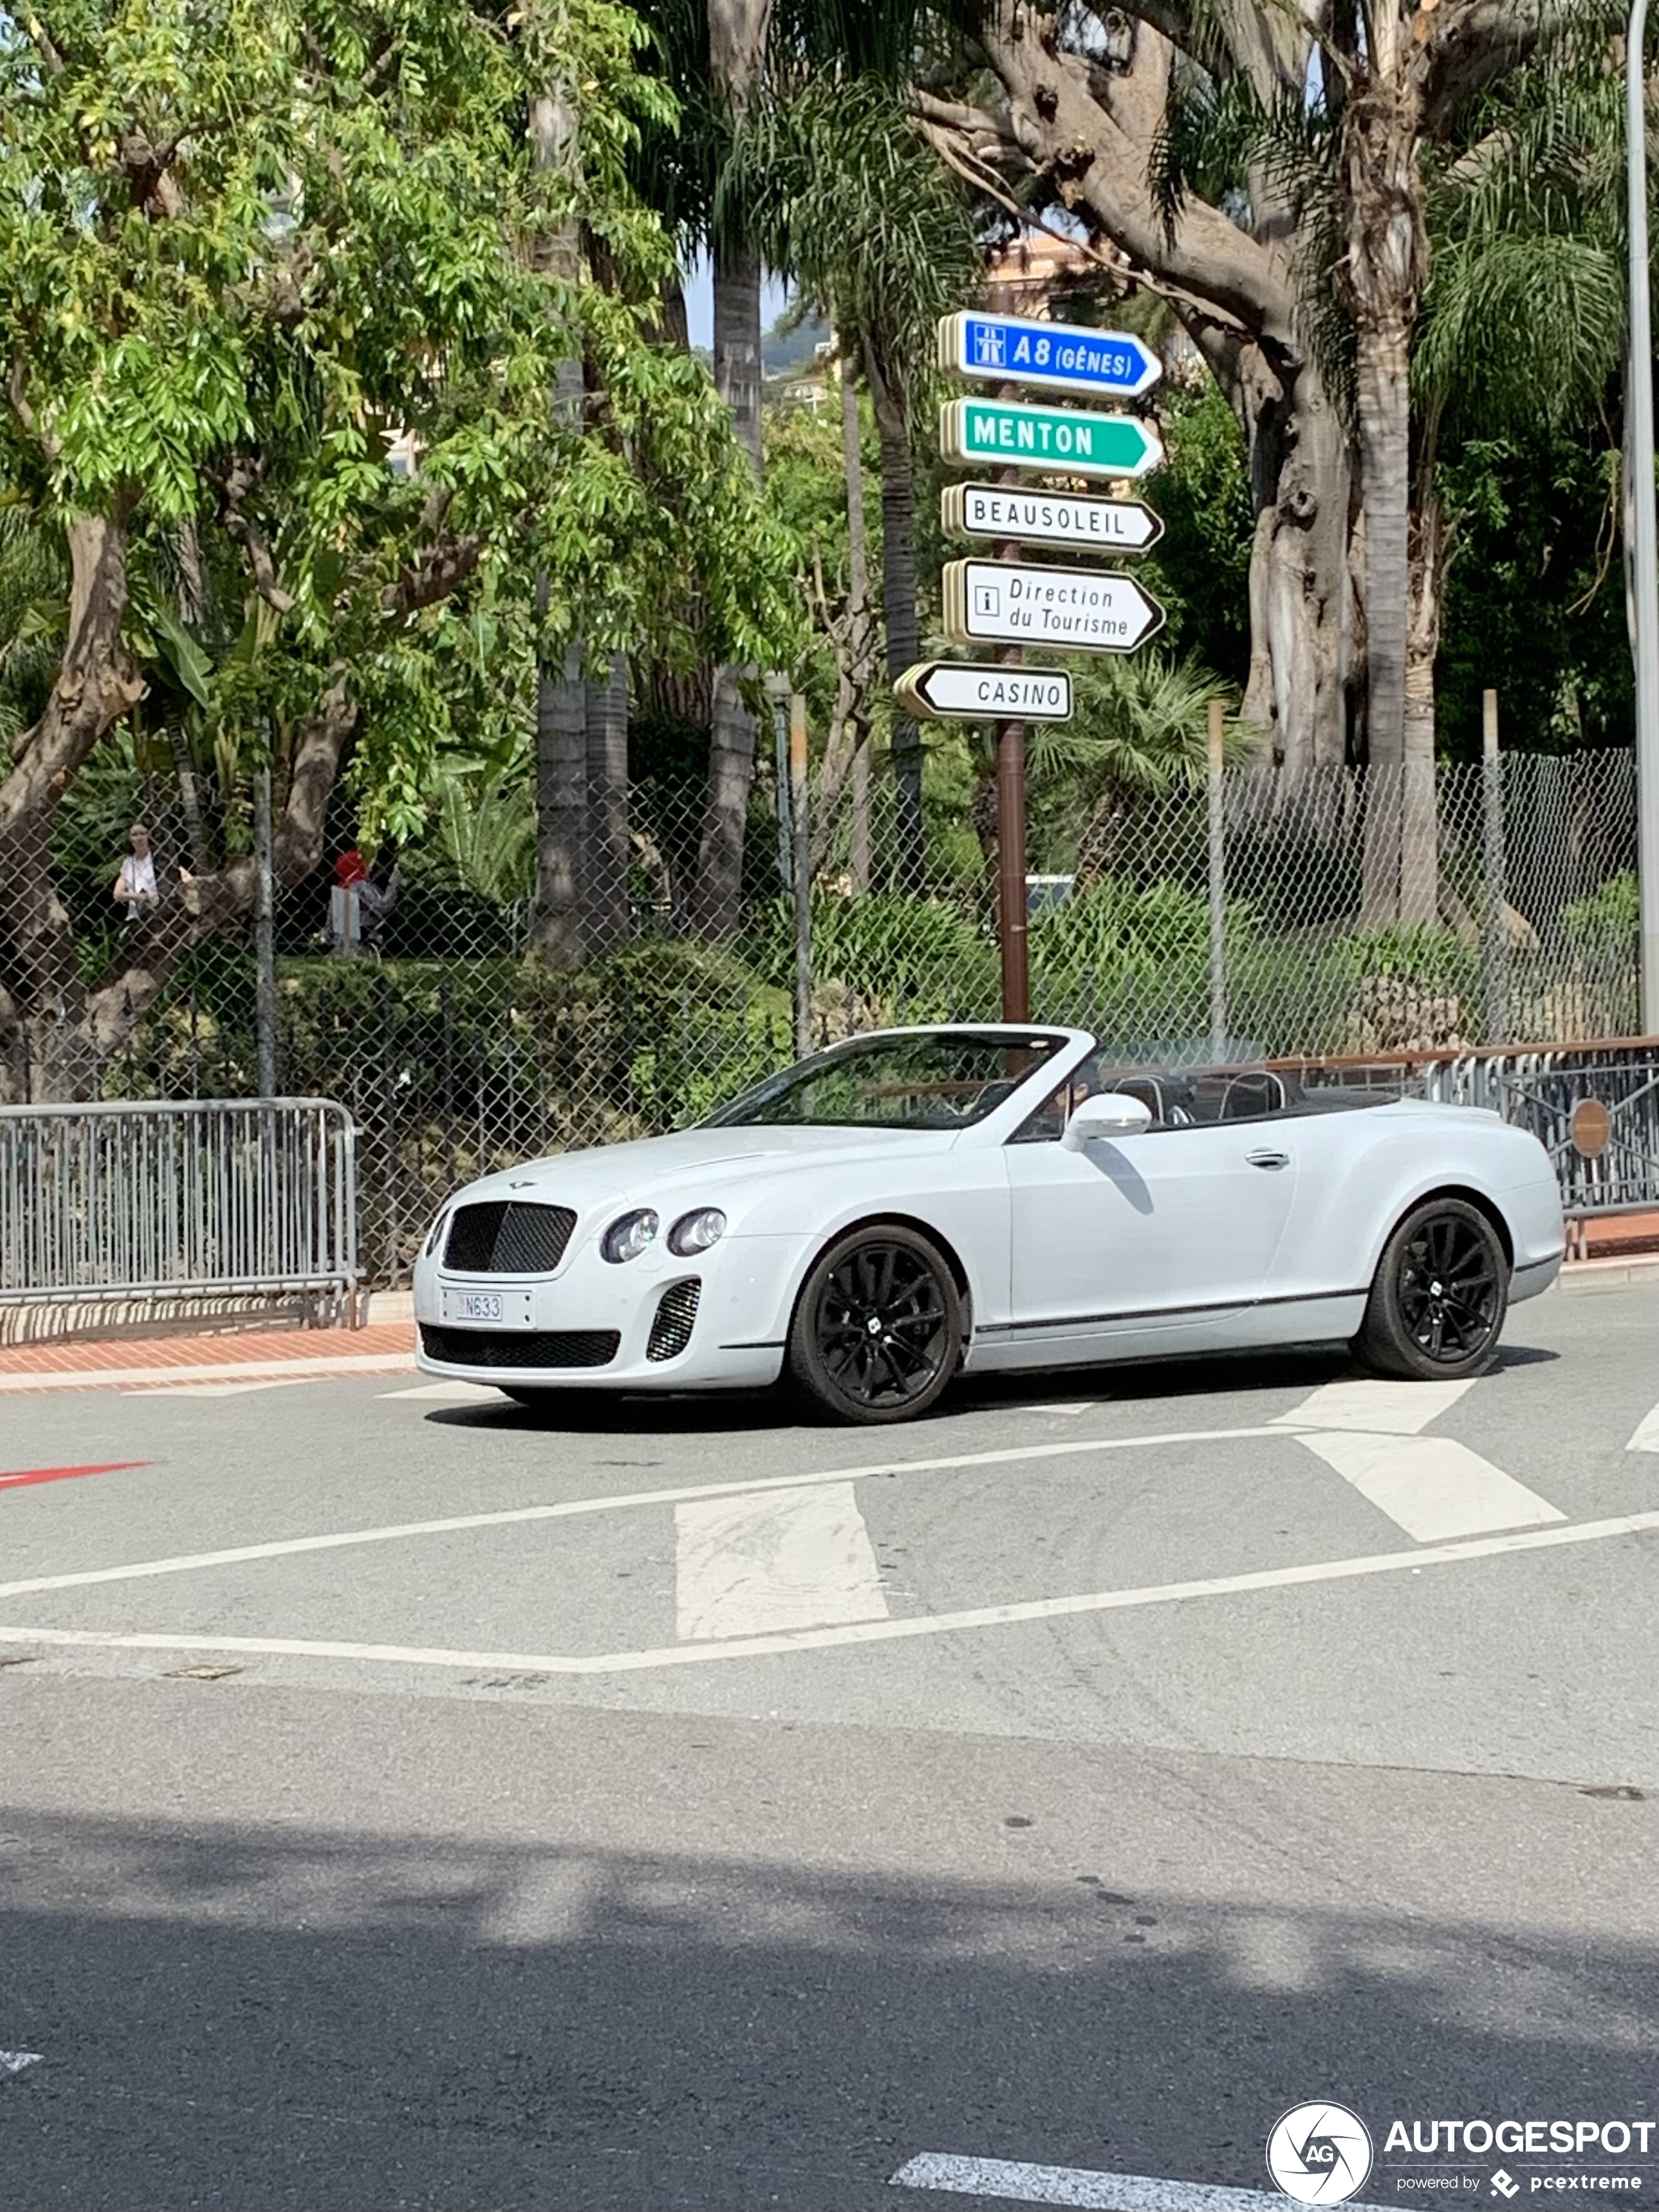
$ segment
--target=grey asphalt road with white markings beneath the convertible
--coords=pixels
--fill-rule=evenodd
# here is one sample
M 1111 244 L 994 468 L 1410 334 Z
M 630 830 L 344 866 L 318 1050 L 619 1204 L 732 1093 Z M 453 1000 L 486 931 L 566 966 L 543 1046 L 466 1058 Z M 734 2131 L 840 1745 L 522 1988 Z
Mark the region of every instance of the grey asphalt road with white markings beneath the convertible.
M 1659 1285 L 1416 1398 L 418 1391 L 0 1398 L 4 2212 L 1265 2190 L 1327 2097 L 1369 2203 L 1659 2203 Z

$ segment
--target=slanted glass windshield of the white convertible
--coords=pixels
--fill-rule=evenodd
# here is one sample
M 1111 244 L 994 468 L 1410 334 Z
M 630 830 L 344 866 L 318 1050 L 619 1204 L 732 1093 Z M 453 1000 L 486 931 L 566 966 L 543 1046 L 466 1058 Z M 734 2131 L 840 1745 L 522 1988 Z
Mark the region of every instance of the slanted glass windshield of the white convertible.
M 1064 1044 L 922 1031 L 856 1037 L 770 1075 L 712 1115 L 714 1124 L 787 1121 L 801 1128 L 971 1128 Z

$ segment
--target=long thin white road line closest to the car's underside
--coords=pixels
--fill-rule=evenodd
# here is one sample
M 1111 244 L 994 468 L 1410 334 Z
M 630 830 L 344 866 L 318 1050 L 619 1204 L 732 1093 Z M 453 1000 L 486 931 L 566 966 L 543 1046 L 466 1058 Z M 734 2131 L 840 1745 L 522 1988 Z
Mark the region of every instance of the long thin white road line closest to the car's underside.
M 0 1597 L 35 1590 L 77 1590 L 93 1582 L 144 1582 L 150 1575 L 190 1575 L 204 1566 L 241 1566 L 248 1559 L 285 1559 L 301 1551 L 341 1551 L 349 1544 L 396 1544 L 407 1535 L 451 1535 L 465 1528 L 509 1528 L 515 1522 L 573 1520 L 584 1513 L 624 1513 L 635 1506 L 677 1506 L 692 1498 L 741 1498 L 761 1491 L 803 1491 L 818 1482 L 865 1482 L 872 1475 L 925 1475 L 951 1467 L 1011 1467 L 1018 1460 L 1062 1460 L 1079 1451 L 1139 1451 L 1148 1444 L 1225 1444 L 1241 1436 L 1283 1436 L 1281 1429 L 1172 1429 L 1161 1436 L 1095 1436 L 1064 1444 L 1015 1444 L 1009 1451 L 964 1451 L 940 1460 L 878 1460 L 872 1467 L 827 1467 L 814 1475 L 761 1475 L 754 1482 L 690 1482 L 666 1491 L 622 1491 L 615 1498 L 566 1498 L 553 1506 L 509 1506 L 502 1513 L 456 1513 L 449 1520 L 394 1522 L 387 1528 L 343 1528 L 338 1535 L 292 1535 L 272 1544 L 237 1544 L 230 1551 L 179 1553 L 170 1559 L 135 1559 L 131 1566 L 91 1566 L 73 1575 L 33 1575 L 0 1582 Z

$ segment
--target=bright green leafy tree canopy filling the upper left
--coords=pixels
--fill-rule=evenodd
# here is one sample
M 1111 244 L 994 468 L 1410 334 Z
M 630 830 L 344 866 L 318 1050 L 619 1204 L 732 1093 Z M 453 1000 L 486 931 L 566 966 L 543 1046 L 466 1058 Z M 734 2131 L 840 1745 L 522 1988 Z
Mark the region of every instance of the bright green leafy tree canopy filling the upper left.
M 345 679 L 367 834 L 407 838 L 447 752 L 511 750 L 538 650 L 792 657 L 787 542 L 653 341 L 672 250 L 626 164 L 675 104 L 641 38 L 611 0 L 0 18 L 0 498 L 58 564 L 73 511 L 126 522 L 128 646 L 197 759 L 281 770 Z M 549 82 L 577 139 L 538 170 Z M 544 272 L 571 226 L 604 285 Z

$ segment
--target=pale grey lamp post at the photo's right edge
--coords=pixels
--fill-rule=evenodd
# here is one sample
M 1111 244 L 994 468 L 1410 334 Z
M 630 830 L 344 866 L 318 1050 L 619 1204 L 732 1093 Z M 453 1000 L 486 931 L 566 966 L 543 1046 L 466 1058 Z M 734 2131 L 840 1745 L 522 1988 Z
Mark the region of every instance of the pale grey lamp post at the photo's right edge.
M 1624 49 L 1630 199 L 1630 553 L 1637 661 L 1637 887 L 1641 1033 L 1659 1037 L 1659 518 L 1652 493 L 1652 307 L 1648 299 L 1648 124 L 1641 49 L 1648 0 L 1632 0 Z

